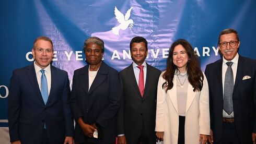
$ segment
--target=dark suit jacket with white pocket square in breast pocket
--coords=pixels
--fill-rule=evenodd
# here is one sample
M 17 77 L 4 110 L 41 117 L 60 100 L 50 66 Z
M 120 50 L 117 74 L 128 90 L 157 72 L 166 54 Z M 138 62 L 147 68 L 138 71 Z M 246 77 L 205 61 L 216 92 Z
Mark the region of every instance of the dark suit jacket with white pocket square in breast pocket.
M 211 129 L 214 141 L 222 137 L 223 83 L 222 63 L 219 59 L 206 66 L 205 75 L 210 92 Z M 243 80 L 243 77 L 250 76 Z M 237 75 L 233 91 L 234 118 L 241 143 L 252 143 L 251 135 L 256 133 L 256 61 L 239 55 Z

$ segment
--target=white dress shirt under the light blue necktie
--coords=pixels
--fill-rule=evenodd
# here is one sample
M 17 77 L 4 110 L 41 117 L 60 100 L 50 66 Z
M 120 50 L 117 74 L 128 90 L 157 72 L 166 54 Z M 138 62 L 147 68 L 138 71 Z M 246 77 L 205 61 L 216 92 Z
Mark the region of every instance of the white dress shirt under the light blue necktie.
M 41 76 L 42 76 L 42 73 L 41 73 L 41 70 L 42 68 L 39 67 L 36 62 L 34 62 L 34 70 L 36 70 L 36 76 L 37 76 L 37 82 L 38 82 L 38 86 L 39 86 L 39 89 L 41 91 Z M 51 90 L 51 66 L 48 65 L 46 68 L 44 68 L 44 74 L 46 76 L 46 79 L 47 79 L 47 86 L 48 86 L 48 95 L 50 95 L 50 90 Z

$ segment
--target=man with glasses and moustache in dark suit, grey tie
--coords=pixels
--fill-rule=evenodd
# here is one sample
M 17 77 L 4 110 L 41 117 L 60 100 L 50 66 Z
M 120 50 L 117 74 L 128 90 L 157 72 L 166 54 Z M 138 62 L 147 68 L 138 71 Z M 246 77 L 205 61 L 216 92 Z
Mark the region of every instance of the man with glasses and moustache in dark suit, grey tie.
M 222 59 L 208 64 L 205 75 L 210 92 L 210 143 L 255 143 L 256 61 L 238 54 L 234 29 L 219 34 Z

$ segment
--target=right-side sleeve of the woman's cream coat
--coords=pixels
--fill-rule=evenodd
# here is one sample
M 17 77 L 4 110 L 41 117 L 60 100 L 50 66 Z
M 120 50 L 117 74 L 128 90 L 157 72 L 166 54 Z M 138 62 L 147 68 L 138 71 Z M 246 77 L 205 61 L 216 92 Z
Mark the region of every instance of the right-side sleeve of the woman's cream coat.
M 199 111 L 199 133 L 210 135 L 209 90 L 205 76 L 203 80 L 203 88 L 200 93 Z

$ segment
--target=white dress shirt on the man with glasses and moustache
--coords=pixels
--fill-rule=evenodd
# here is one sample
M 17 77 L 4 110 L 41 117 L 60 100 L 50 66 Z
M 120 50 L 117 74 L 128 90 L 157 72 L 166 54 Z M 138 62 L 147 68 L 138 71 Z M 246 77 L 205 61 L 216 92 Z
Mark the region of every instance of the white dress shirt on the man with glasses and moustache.
M 233 71 L 233 76 L 234 76 L 234 85 L 235 85 L 235 81 L 236 81 L 236 75 L 237 75 L 237 65 L 238 65 L 238 58 L 239 55 L 237 54 L 231 61 L 227 61 L 224 57 L 223 57 L 223 63 L 222 63 L 222 86 L 223 86 L 223 95 L 224 95 L 224 83 L 225 83 L 225 74 L 227 71 L 227 62 L 233 62 L 231 68 Z M 230 115 L 228 115 L 224 110 L 223 110 L 223 117 L 234 117 L 234 112 L 232 112 Z

